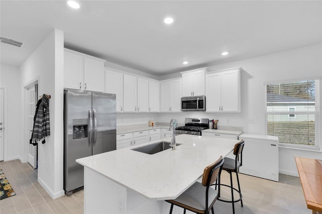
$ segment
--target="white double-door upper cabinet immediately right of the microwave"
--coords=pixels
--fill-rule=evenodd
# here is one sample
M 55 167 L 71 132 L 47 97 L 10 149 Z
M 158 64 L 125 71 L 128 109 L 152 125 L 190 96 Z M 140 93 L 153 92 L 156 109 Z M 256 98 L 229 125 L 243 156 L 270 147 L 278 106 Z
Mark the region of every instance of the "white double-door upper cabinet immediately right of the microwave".
M 240 112 L 240 70 L 238 67 L 206 73 L 207 112 Z

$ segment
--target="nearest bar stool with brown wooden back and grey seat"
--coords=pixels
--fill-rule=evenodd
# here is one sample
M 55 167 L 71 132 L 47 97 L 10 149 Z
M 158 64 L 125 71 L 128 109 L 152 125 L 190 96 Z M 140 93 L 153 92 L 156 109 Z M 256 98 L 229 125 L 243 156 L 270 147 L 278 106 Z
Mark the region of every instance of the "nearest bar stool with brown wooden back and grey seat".
M 220 156 L 218 160 L 204 169 L 201 183 L 195 182 L 176 199 L 166 200 L 171 203 L 170 214 L 172 213 L 174 205 L 184 208 L 184 214 L 186 213 L 186 209 L 196 213 L 207 214 L 211 209 L 212 214 L 214 214 L 213 204 L 218 198 L 218 192 L 214 188 L 211 188 L 210 185 L 217 178 L 220 183 L 220 173 L 223 163 L 224 160 Z

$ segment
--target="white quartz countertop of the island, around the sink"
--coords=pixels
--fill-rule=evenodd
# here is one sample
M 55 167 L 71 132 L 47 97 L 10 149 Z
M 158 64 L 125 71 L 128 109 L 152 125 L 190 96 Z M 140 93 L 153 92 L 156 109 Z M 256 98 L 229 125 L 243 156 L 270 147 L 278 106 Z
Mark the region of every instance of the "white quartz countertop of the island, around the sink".
M 162 140 L 170 142 L 171 138 Z M 153 155 L 131 150 L 158 141 L 161 140 L 77 159 L 76 162 L 148 199 L 174 199 L 202 177 L 206 166 L 232 151 L 237 142 L 178 135 L 176 141 L 182 145 L 176 150 L 168 149 Z

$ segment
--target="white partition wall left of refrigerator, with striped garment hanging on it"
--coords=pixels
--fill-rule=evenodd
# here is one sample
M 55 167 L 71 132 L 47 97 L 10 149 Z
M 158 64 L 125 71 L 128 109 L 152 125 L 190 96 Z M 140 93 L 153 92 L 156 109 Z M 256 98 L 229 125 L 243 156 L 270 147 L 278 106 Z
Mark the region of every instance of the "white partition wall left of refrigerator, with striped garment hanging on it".
M 45 144 L 38 144 L 38 181 L 53 198 L 64 194 L 63 51 L 63 32 L 54 30 L 21 65 L 22 87 L 39 79 L 38 93 L 51 95 L 50 138 Z

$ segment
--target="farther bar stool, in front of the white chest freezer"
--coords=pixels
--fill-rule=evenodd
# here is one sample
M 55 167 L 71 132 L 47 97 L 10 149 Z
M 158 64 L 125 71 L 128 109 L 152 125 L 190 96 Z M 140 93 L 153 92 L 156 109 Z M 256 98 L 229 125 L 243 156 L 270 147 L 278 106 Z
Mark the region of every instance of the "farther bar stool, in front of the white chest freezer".
M 243 149 L 244 149 L 245 142 L 244 140 L 240 140 L 238 143 L 235 144 L 233 148 L 233 154 L 235 155 L 235 159 L 232 158 L 224 158 L 224 163 L 222 166 L 222 169 L 227 171 L 230 175 L 230 186 L 226 184 L 218 184 L 218 200 L 224 201 L 224 202 L 230 202 L 232 203 L 232 213 L 235 213 L 235 206 L 234 203 L 240 201 L 241 207 L 243 207 L 243 199 L 241 196 L 241 191 L 240 191 L 240 185 L 239 185 L 239 178 L 238 178 L 238 171 L 239 167 L 242 165 L 242 159 L 243 159 Z M 239 156 L 240 156 L 240 161 L 239 161 Z M 237 184 L 238 184 L 238 190 L 232 186 L 232 172 L 236 173 L 236 178 L 237 178 Z M 216 184 L 214 184 L 216 185 Z M 227 186 L 230 187 L 231 189 L 231 200 L 223 200 L 220 199 L 220 186 Z M 237 191 L 239 193 L 239 198 L 234 200 L 233 198 L 233 191 Z

